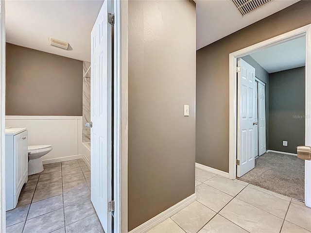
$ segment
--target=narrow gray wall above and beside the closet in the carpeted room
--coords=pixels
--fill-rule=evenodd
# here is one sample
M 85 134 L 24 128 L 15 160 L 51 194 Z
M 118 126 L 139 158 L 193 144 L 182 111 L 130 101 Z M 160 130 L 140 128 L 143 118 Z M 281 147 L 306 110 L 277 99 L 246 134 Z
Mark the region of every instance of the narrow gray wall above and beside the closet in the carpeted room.
M 263 83 L 265 86 L 265 102 L 266 102 L 266 150 L 269 149 L 269 73 L 262 68 L 250 55 L 242 57 L 242 59 L 249 65 L 255 68 L 255 76 Z

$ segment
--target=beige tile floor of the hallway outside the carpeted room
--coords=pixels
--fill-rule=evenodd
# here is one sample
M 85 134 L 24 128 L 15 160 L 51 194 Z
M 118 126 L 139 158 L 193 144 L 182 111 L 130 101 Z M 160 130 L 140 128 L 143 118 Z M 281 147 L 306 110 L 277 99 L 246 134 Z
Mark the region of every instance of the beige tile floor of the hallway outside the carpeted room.
M 303 202 L 196 168 L 197 200 L 148 233 L 311 233 Z

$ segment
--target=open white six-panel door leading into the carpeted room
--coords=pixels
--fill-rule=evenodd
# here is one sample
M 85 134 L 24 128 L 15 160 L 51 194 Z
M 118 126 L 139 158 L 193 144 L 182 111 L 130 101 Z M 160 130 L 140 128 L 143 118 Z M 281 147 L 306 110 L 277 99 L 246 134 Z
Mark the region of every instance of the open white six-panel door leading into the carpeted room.
M 238 59 L 237 176 L 255 167 L 255 68 Z M 240 165 L 239 165 L 240 164 Z

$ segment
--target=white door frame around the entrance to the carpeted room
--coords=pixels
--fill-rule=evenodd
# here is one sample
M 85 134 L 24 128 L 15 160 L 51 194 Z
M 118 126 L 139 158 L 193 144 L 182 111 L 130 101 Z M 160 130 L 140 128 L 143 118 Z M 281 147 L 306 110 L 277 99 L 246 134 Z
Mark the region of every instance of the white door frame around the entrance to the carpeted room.
M 253 52 L 306 36 L 306 116 L 311 116 L 311 24 L 229 54 L 229 179 L 237 175 L 237 59 Z M 306 117 L 307 146 L 311 146 L 311 117 Z M 311 161 L 305 161 L 305 174 L 311 174 Z M 305 204 L 311 207 L 311 176 L 305 176 Z M 307 195 L 308 194 L 308 195 Z

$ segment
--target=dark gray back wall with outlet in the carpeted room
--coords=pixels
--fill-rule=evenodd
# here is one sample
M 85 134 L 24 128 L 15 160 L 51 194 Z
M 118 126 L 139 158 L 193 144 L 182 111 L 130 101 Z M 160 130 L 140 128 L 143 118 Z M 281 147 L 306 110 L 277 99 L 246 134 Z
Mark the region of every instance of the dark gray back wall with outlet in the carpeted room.
M 305 145 L 305 67 L 271 73 L 269 79 L 269 149 L 296 153 Z

